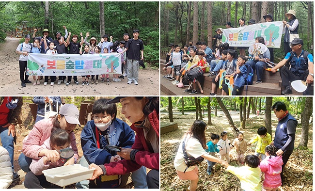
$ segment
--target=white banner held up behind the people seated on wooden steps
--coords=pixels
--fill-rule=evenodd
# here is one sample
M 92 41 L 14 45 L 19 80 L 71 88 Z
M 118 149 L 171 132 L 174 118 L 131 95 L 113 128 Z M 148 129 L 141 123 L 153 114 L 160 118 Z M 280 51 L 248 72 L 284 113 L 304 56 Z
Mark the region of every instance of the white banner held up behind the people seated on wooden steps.
M 262 36 L 267 47 L 280 48 L 283 27 L 282 21 L 276 21 L 223 29 L 222 43 L 229 43 L 231 47 L 250 47 L 257 36 Z

